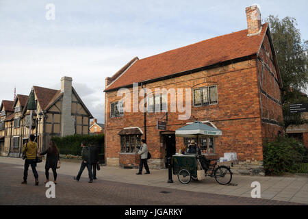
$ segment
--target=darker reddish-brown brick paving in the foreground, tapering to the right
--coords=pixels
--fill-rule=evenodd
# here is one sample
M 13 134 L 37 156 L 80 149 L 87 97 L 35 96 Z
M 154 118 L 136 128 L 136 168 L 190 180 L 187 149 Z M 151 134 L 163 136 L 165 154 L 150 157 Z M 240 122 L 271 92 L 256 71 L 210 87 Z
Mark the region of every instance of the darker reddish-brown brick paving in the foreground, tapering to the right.
M 43 164 L 38 165 L 40 170 Z M 46 198 L 44 172 L 38 171 L 38 174 L 38 186 L 34 185 L 31 168 L 27 185 L 21 185 L 23 166 L 0 163 L 0 196 L 3 197 L 0 198 L 0 205 L 298 205 L 263 198 L 191 192 L 103 179 L 88 183 L 87 170 L 79 182 L 74 181 L 71 175 L 58 174 L 56 198 Z

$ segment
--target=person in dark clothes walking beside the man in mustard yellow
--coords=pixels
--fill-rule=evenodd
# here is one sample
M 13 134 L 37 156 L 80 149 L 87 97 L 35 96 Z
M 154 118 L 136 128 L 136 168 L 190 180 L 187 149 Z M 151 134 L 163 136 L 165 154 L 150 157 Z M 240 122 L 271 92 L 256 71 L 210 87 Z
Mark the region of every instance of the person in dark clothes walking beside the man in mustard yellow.
M 40 155 L 45 155 L 46 157 L 46 164 L 45 164 L 45 176 L 46 181 L 44 183 L 49 182 L 49 169 L 53 170 L 53 182 L 57 184 L 57 161 L 60 161 L 59 149 L 57 149 L 57 145 L 53 140 L 49 142 L 49 148 L 40 153 Z

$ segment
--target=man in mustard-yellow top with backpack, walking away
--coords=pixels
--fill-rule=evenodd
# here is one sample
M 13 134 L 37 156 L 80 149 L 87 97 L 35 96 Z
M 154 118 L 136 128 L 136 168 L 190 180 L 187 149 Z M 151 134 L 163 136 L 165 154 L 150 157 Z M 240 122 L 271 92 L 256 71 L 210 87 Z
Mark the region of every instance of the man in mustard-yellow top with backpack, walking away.
M 23 171 L 23 181 L 21 184 L 27 184 L 28 169 L 31 166 L 36 185 L 38 185 L 38 172 L 36 171 L 36 155 L 38 153 L 38 144 L 34 142 L 36 136 L 30 135 L 29 142 L 23 145 L 23 154 L 25 155 L 25 170 Z

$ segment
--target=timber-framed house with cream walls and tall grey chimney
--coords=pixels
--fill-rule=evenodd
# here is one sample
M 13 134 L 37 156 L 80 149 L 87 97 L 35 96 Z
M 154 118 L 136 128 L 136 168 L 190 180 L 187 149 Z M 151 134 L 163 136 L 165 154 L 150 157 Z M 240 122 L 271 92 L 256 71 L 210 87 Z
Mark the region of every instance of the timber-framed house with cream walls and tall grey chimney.
M 72 86 L 71 77 L 62 77 L 61 89 L 33 86 L 36 110 L 33 112 L 31 133 L 37 133 L 41 150 L 46 149 L 52 136 L 89 134 L 92 114 Z M 14 101 L 2 101 L 0 106 L 0 155 L 20 157 L 28 141 L 30 112 L 29 96 L 17 94 Z M 60 149 L 61 152 L 61 149 Z

